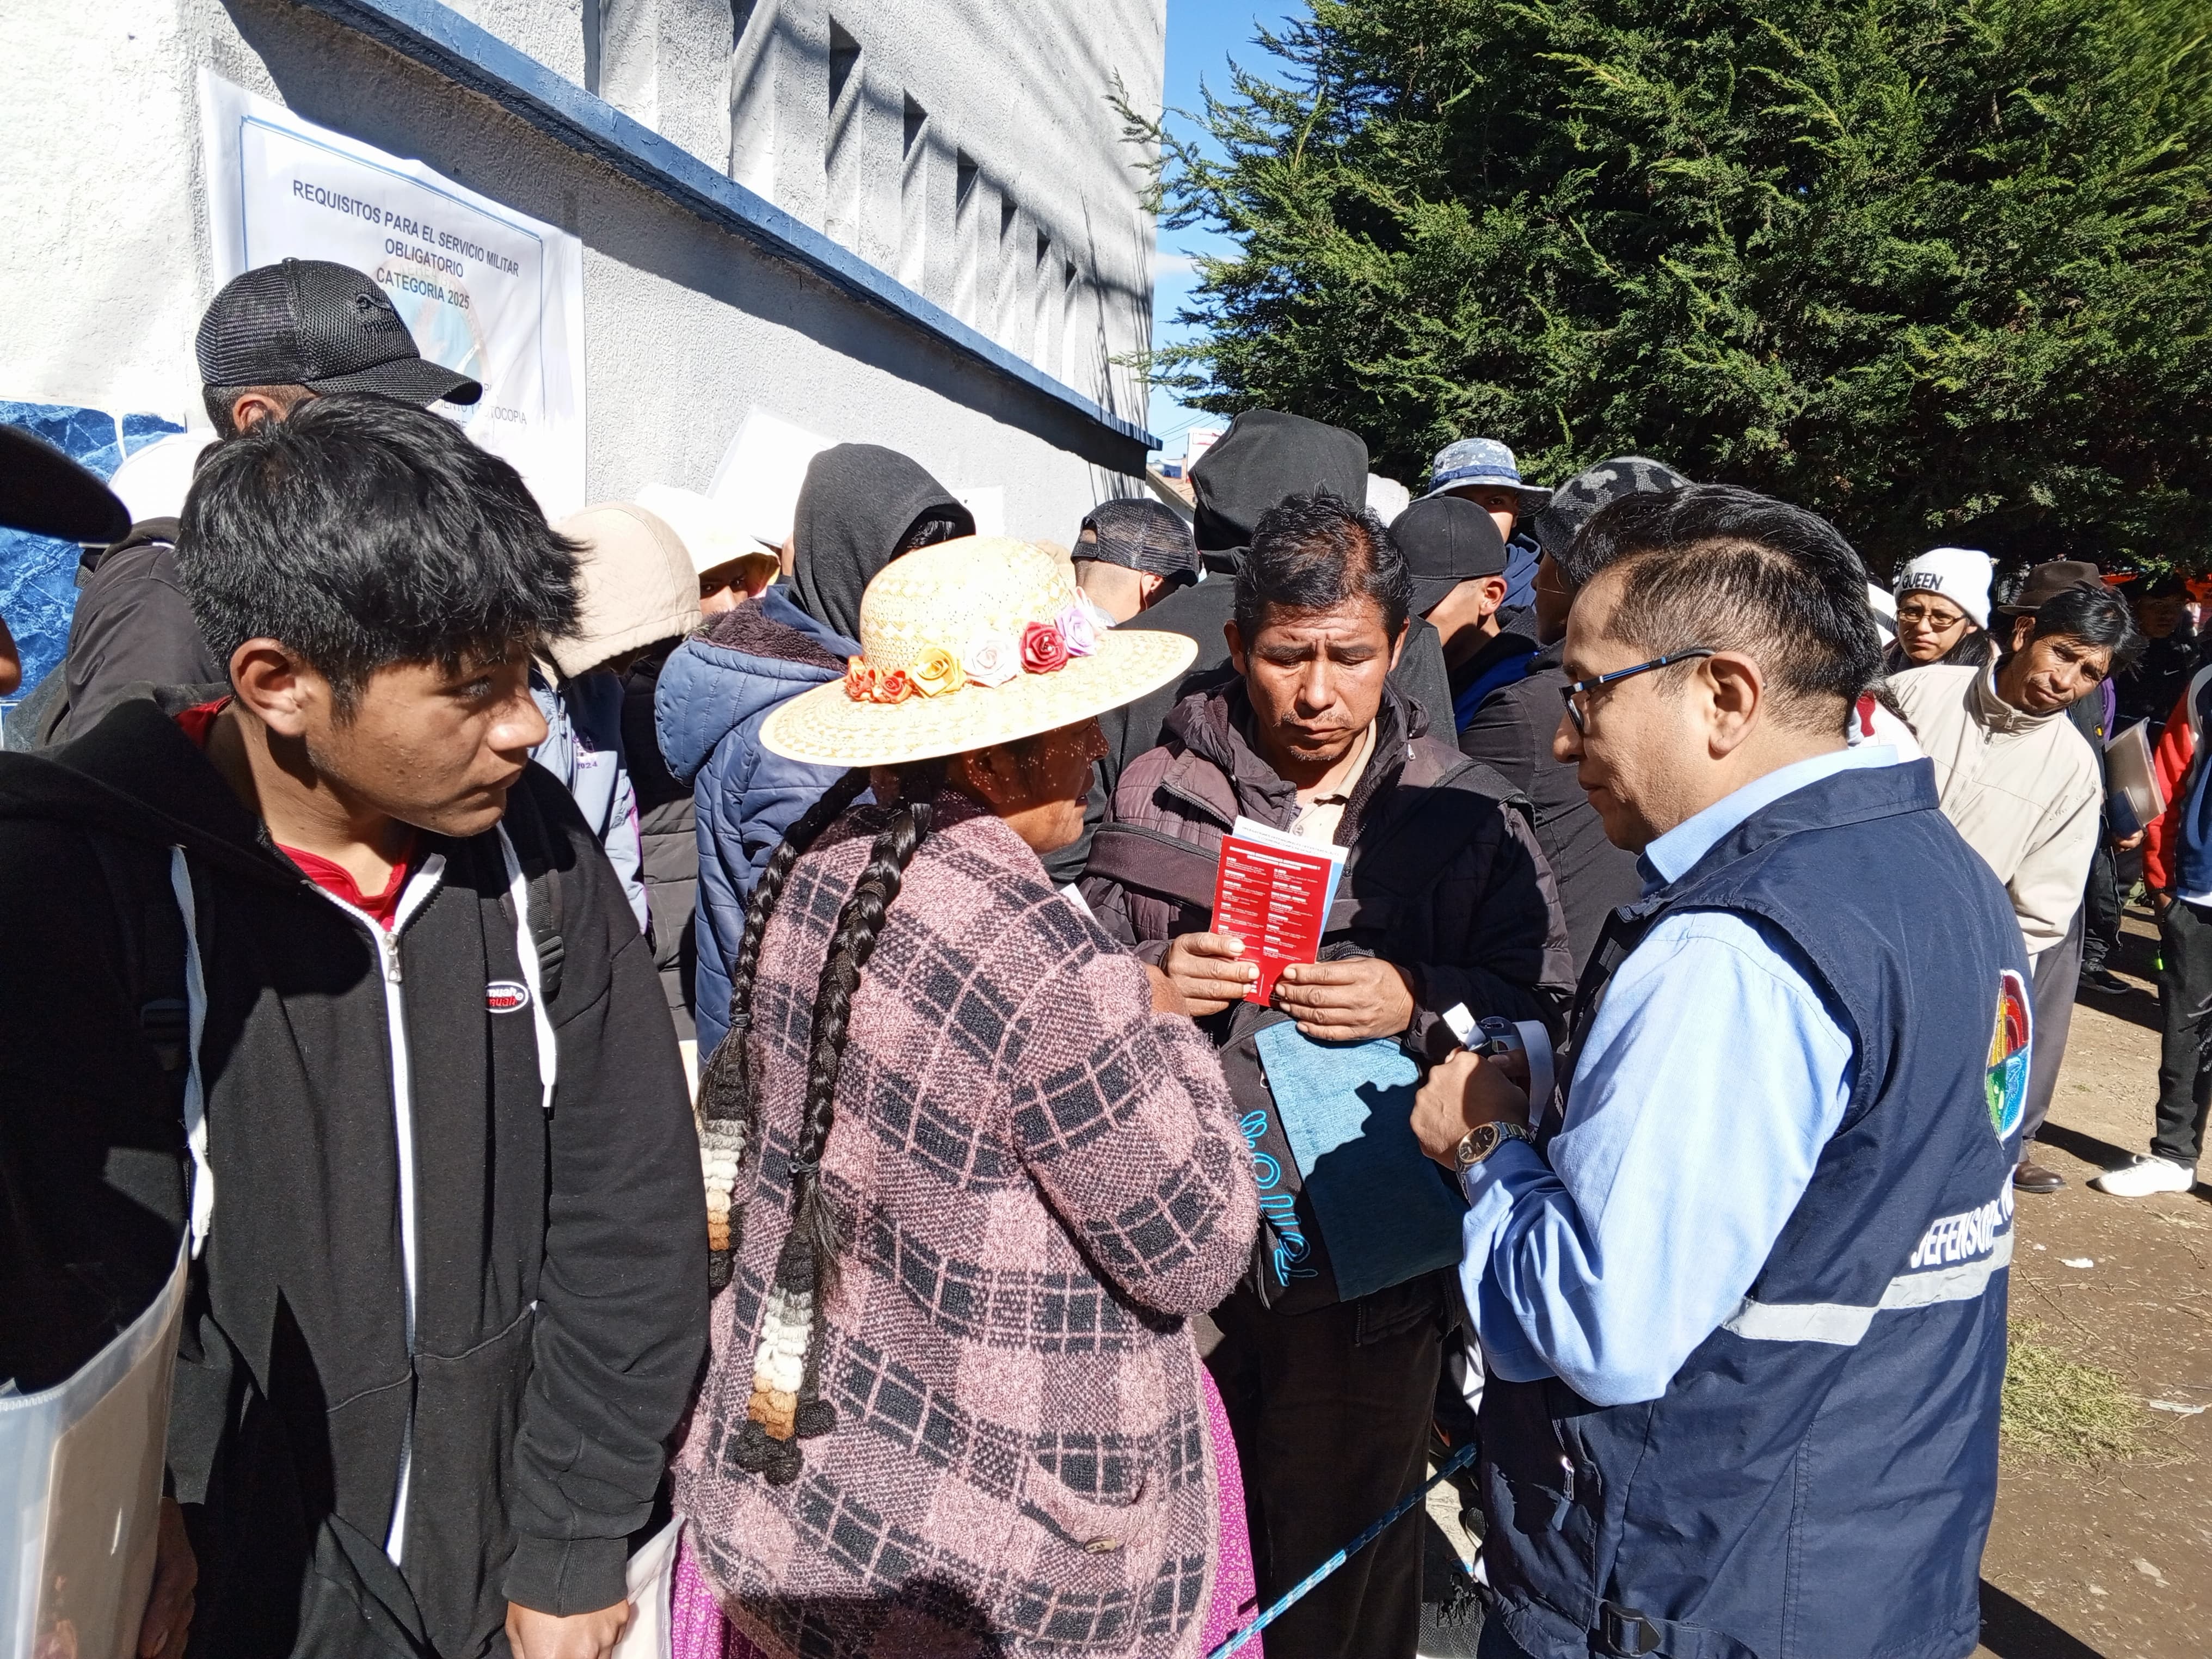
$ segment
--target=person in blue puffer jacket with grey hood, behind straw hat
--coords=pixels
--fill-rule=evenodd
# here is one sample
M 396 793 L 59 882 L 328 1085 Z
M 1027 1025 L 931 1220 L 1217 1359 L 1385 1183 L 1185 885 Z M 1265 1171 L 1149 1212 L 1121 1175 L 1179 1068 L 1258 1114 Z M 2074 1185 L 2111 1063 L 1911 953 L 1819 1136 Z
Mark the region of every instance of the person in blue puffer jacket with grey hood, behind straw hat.
M 770 712 L 836 679 L 860 655 L 860 595 L 900 553 L 973 535 L 975 520 L 922 467 L 878 445 L 836 445 L 807 465 L 787 584 L 726 611 L 686 639 L 653 695 L 661 757 L 692 787 L 699 823 L 699 1064 L 730 1018 L 730 964 L 745 900 L 799 816 L 838 779 L 834 765 L 761 748 Z

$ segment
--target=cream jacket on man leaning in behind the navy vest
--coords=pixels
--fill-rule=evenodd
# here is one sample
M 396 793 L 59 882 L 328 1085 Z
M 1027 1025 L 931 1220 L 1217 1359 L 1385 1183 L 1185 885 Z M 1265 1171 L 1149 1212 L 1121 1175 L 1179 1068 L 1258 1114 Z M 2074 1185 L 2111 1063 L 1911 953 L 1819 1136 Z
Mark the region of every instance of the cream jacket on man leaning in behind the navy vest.
M 1931 664 L 1889 681 L 1942 816 L 1997 872 L 2028 956 L 2066 938 L 2097 852 L 2104 785 L 2066 710 L 2028 714 L 1997 697 L 1997 670 Z

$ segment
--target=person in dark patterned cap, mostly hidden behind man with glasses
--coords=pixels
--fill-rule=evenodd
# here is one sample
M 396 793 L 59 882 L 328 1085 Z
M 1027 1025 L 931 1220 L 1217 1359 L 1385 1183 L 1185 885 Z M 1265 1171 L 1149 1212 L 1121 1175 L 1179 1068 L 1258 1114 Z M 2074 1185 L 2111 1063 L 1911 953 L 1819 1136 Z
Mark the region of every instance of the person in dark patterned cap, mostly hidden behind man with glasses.
M 1542 648 L 1526 661 L 1520 679 L 1495 688 L 1460 728 L 1460 752 L 1489 763 L 1528 796 L 1537 845 L 1559 885 L 1559 909 L 1566 911 L 1577 971 L 1613 907 L 1644 894 L 1644 878 L 1637 874 L 1637 856 L 1606 841 L 1606 825 L 1575 781 L 1575 765 L 1551 752 L 1559 730 L 1559 688 L 1566 686 L 1566 670 L 1559 666 L 1566 613 L 1582 584 L 1597 575 L 1597 568 L 1586 568 L 1586 553 L 1577 557 L 1575 533 L 1599 507 L 1621 495 L 1681 489 L 1688 482 L 1657 460 L 1615 456 L 1553 491 L 1551 502 L 1528 520 L 1528 533 L 1544 557 L 1535 571 L 1535 604 L 1526 626 Z

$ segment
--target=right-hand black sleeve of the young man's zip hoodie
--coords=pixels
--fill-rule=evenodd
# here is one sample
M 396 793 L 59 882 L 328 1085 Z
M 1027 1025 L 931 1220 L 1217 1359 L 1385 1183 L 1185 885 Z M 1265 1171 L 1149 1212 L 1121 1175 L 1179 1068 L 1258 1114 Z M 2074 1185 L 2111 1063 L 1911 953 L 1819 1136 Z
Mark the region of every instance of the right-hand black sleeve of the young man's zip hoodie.
M 675 1026 L 653 949 L 606 854 L 557 785 L 566 982 L 549 1124 L 546 1250 L 533 1374 L 515 1438 L 507 1599 L 588 1613 L 624 1597 L 668 1438 L 706 1352 L 706 1197 Z M 588 933 L 588 949 L 577 949 Z M 577 969 L 604 971 L 575 982 Z

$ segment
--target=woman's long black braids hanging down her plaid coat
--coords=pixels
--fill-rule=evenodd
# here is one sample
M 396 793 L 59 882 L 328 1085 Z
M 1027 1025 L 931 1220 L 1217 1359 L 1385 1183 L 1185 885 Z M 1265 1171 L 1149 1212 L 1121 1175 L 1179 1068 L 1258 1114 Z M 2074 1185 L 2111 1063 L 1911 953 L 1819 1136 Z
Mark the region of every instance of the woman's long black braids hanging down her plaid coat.
M 845 790 L 858 774 L 847 774 Z M 821 1159 L 836 1124 L 836 1084 L 845 1068 L 845 1040 L 852 1024 L 852 998 L 860 973 L 876 953 L 885 916 L 898 902 L 907 865 L 936 823 L 936 796 L 945 783 L 942 761 L 925 761 L 896 772 L 898 803 L 876 834 L 867 865 L 854 883 L 830 936 L 830 953 L 814 989 L 814 1022 L 807 1044 L 807 1088 L 799 1117 L 799 1141 L 792 1148 L 792 1228 L 776 1252 L 776 1272 L 768 1290 L 761 1340 L 752 1360 L 752 1396 L 745 1402 L 745 1427 L 726 1455 L 739 1469 L 765 1475 L 774 1484 L 799 1478 L 799 1440 L 812 1440 L 836 1429 L 836 1409 L 821 1398 L 821 1327 L 823 1303 L 836 1290 L 836 1256 L 841 1228 L 830 1192 L 823 1188 Z M 858 790 L 845 794 L 849 803 Z M 812 816 L 812 814 L 810 814 Z M 827 818 L 825 818 L 827 823 Z M 745 916 L 745 940 L 739 971 L 730 987 L 732 1033 L 739 1015 L 750 1018 L 752 971 L 759 960 L 759 931 L 783 894 L 783 878 L 796 863 L 794 841 L 805 821 L 792 830 L 770 860 L 781 874 L 770 887 L 763 874 Z M 821 825 L 814 827 L 814 834 Z M 812 841 L 812 836 L 807 836 Z M 785 856 L 790 854 L 790 856 Z M 719 1053 L 719 1051 L 717 1051 Z M 728 1071 L 728 1066 L 726 1066 Z M 739 1071 L 743 1102 L 750 1108 L 750 1082 Z M 734 1241 L 732 1241 L 734 1245 Z M 723 1270 L 728 1276 L 728 1267 Z

